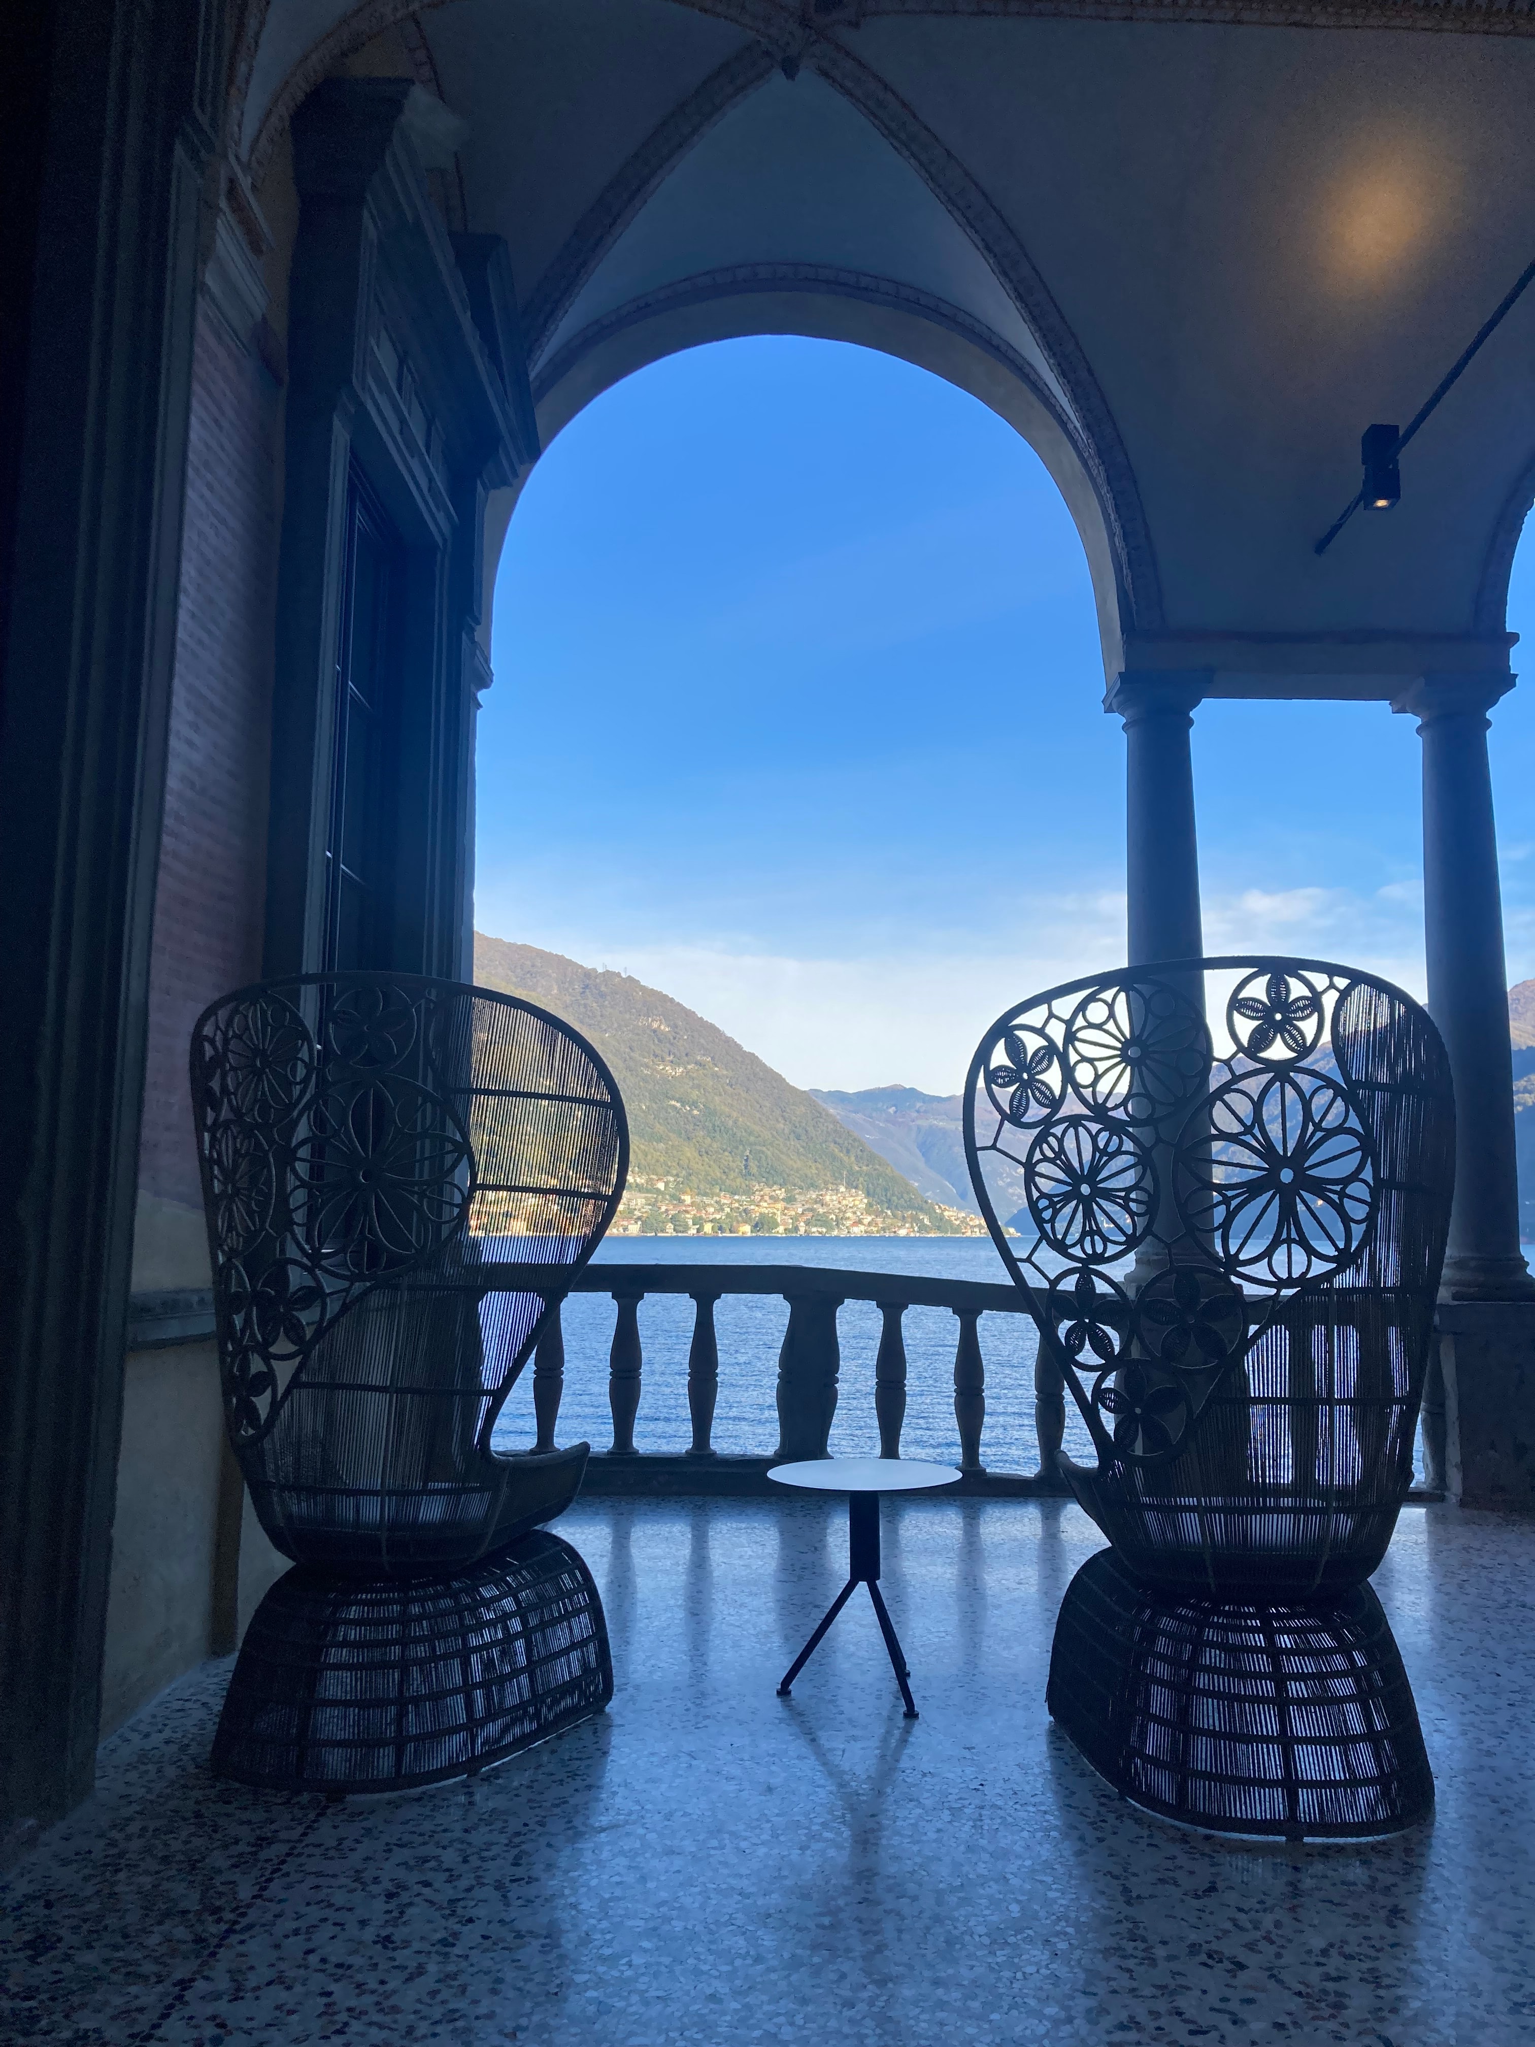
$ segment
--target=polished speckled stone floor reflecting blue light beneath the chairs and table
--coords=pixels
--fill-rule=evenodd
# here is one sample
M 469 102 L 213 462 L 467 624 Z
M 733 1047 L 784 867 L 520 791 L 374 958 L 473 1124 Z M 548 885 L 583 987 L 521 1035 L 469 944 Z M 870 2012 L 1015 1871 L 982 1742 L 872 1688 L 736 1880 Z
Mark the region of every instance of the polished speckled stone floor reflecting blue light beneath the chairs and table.
M 598 1722 L 323 1805 L 215 1785 L 227 1664 L 115 1736 L 0 1887 L 0 2039 L 348 2047 L 1535 2043 L 1535 1523 L 1410 1509 L 1375 1584 L 1431 1828 L 1253 1848 L 1122 1805 L 1050 1728 L 1058 1502 L 886 1505 L 905 1722 L 839 1502 L 594 1502 Z

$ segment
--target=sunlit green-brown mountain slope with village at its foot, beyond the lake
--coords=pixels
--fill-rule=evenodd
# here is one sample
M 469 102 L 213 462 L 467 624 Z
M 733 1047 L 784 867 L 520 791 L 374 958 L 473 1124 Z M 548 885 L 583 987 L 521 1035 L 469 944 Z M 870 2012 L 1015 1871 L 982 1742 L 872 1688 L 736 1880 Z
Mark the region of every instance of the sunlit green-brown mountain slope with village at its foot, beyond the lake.
M 978 1226 L 810 1095 L 643 981 L 475 933 L 475 981 L 526 995 L 602 1052 L 630 1134 L 620 1232 L 954 1236 Z

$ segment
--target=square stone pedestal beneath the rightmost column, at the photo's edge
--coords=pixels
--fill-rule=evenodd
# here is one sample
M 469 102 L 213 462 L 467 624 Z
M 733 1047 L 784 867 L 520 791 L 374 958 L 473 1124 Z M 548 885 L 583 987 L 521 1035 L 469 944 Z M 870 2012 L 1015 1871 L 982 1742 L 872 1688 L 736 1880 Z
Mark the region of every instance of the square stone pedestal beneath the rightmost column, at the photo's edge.
M 1445 1490 L 1535 1513 L 1535 1300 L 1441 1300 Z

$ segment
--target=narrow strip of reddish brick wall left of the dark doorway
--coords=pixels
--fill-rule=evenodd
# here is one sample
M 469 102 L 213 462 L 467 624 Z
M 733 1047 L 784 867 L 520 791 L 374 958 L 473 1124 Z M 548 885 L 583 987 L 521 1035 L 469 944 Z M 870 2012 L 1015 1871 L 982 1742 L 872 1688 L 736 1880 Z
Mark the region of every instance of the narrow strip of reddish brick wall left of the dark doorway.
M 268 371 L 205 303 L 192 360 L 186 538 L 149 968 L 141 1238 L 166 1204 L 201 1212 L 186 1042 L 199 1011 L 215 995 L 258 978 L 262 964 L 278 413 Z M 139 1253 L 135 1283 L 178 1281 L 166 1257 L 156 1261 L 151 1245 Z M 158 1269 L 141 1273 L 145 1259 Z M 186 1271 L 180 1283 L 207 1281 Z

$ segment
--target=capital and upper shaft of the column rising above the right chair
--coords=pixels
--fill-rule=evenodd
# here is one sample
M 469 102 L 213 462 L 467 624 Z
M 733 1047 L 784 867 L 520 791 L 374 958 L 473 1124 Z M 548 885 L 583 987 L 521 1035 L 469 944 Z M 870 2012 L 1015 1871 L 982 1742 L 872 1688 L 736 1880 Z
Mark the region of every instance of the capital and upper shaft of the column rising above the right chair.
M 1205 669 L 1130 671 L 1103 698 L 1126 729 L 1130 966 L 1203 952 L 1189 731 L 1208 684 Z

